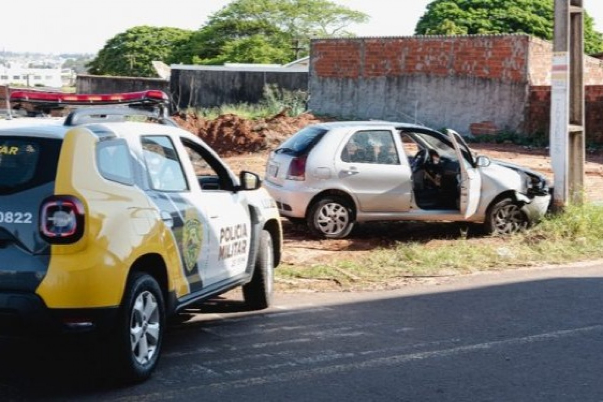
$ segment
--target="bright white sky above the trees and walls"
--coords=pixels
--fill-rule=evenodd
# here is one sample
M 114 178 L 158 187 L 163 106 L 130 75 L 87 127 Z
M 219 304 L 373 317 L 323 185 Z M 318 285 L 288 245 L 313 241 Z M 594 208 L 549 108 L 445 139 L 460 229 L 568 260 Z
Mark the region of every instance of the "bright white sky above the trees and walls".
M 367 24 L 353 25 L 358 36 L 414 34 L 430 0 L 332 0 L 367 13 Z M 136 25 L 197 30 L 230 0 L 28 0 L 27 7 L 3 0 L 0 51 L 96 53 L 107 40 Z M 603 1 L 584 0 L 603 32 Z

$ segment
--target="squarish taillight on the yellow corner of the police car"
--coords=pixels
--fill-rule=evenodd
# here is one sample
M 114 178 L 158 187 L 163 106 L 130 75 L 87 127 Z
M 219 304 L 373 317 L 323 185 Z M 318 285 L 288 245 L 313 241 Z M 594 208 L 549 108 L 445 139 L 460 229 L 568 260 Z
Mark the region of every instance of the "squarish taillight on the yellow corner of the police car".
M 49 243 L 75 243 L 84 233 L 84 206 L 71 196 L 46 199 L 40 208 L 40 234 Z

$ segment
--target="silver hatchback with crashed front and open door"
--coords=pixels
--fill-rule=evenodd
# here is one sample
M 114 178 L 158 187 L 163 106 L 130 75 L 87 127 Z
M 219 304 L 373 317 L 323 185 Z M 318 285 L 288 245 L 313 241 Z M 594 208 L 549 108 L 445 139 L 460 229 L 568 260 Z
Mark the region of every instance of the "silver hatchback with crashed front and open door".
M 551 202 L 543 175 L 476 155 L 453 130 L 411 124 L 309 125 L 271 152 L 266 169 L 280 214 L 331 239 L 367 221 L 480 222 L 513 233 Z

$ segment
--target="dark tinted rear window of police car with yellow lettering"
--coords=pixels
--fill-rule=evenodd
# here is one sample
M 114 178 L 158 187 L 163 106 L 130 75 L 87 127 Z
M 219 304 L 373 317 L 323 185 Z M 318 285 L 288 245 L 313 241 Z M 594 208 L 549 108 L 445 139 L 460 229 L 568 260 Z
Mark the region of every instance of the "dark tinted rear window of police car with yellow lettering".
M 54 181 L 61 140 L 0 137 L 0 194 Z

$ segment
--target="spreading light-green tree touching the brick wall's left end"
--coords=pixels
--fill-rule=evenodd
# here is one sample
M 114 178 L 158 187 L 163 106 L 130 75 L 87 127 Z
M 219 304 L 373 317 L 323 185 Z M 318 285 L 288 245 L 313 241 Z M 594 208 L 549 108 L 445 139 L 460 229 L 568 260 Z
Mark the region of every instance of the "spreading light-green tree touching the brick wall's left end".
M 350 36 L 346 27 L 367 21 L 328 0 L 235 0 L 193 34 L 183 61 L 287 63 L 308 54 L 312 37 Z

